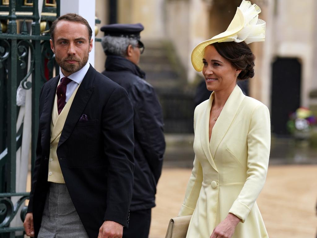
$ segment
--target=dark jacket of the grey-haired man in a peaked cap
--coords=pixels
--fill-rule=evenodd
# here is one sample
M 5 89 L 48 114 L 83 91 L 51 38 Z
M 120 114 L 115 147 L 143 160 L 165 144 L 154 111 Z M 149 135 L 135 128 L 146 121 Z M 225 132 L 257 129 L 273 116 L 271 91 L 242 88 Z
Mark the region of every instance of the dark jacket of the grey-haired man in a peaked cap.
M 103 75 L 126 89 L 134 111 L 134 185 L 131 211 L 155 206 L 165 151 L 163 114 L 155 91 L 143 78 L 145 73 L 121 56 L 107 56 Z

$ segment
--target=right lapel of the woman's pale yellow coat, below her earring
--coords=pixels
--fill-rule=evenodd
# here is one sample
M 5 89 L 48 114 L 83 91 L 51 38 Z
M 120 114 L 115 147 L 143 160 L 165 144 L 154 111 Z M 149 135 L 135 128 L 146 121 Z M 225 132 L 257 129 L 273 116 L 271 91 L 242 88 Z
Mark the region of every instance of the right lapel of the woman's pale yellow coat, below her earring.
M 215 158 L 217 148 L 226 135 L 244 97 L 245 95 L 239 86 L 236 85 L 212 128 L 210 151 L 213 158 Z

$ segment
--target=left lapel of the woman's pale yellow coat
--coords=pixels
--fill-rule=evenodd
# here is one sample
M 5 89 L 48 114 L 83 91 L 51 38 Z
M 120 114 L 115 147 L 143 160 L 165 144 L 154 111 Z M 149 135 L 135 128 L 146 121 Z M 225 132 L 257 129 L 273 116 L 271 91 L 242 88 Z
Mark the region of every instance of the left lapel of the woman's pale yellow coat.
M 210 147 L 209 147 L 209 117 L 210 117 L 210 109 L 211 109 L 211 105 L 212 105 L 212 101 L 214 99 L 214 92 L 210 95 L 210 98 L 208 100 L 208 104 L 207 106 L 204 108 L 204 111 L 202 112 L 202 126 L 201 131 L 200 131 L 200 140 L 202 143 L 202 147 L 204 150 L 204 153 L 209 161 L 209 163 L 211 164 L 211 166 L 218 172 L 216 164 L 213 160 L 213 157 L 210 153 Z

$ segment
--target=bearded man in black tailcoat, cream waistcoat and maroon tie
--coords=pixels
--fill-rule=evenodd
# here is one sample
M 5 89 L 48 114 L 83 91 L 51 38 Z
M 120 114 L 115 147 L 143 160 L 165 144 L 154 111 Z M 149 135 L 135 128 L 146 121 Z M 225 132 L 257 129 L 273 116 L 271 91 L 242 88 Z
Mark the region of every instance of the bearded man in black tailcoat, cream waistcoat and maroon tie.
M 42 87 L 29 236 L 120 238 L 133 187 L 133 108 L 89 63 L 92 30 L 68 13 L 50 28 L 60 75 Z M 33 226 L 34 224 L 34 226 Z

